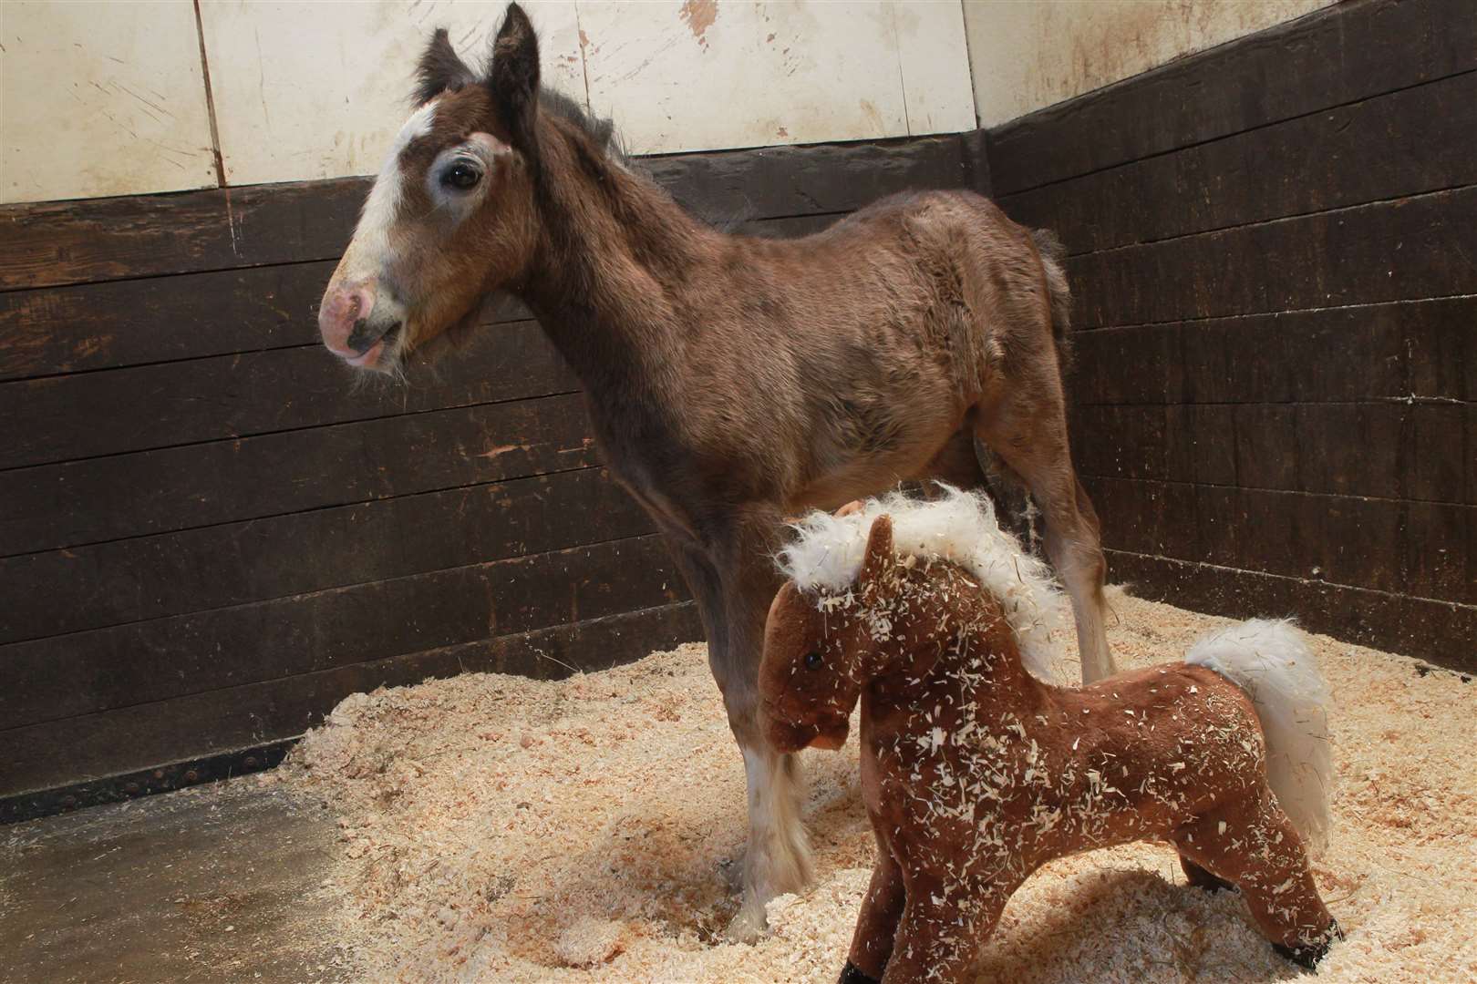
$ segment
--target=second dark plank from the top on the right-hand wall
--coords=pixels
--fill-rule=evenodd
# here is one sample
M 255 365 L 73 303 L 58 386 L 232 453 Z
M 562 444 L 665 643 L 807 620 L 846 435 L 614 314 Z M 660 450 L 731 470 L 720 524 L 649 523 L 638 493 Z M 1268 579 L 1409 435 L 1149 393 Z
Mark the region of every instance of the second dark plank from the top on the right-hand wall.
M 1010 195 L 1072 254 L 1477 184 L 1477 72 Z

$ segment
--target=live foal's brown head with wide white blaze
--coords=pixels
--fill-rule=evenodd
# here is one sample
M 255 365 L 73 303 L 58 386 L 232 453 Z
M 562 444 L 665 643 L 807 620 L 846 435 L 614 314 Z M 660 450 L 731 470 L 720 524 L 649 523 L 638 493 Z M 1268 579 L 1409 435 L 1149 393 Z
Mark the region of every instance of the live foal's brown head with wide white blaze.
M 515 280 L 538 242 L 539 49 L 508 4 L 476 72 L 437 31 L 421 58 L 417 109 L 375 179 L 323 294 L 323 344 L 350 366 L 393 372 L 414 348 L 476 317 Z

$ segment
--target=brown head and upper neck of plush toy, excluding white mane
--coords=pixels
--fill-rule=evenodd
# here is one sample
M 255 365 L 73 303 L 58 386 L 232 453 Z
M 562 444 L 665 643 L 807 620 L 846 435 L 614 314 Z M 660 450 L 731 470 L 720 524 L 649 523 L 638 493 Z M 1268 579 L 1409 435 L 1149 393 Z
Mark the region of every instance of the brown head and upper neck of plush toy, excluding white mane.
M 840 748 L 863 687 L 879 677 L 926 674 L 948 645 L 953 606 L 963 600 L 956 581 L 963 572 L 953 564 L 899 558 L 892 519 L 877 516 L 854 584 L 809 592 L 786 583 L 770 606 L 759 665 L 765 730 L 775 749 Z

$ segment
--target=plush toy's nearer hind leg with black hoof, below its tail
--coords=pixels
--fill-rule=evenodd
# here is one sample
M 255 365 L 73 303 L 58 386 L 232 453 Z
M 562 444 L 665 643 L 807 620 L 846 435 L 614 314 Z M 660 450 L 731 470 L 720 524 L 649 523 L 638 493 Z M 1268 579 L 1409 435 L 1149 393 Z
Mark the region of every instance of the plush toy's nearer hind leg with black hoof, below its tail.
M 1241 888 L 1261 934 L 1286 959 L 1313 968 L 1343 938 L 1317 894 L 1303 839 L 1270 792 L 1214 810 L 1174 844 Z

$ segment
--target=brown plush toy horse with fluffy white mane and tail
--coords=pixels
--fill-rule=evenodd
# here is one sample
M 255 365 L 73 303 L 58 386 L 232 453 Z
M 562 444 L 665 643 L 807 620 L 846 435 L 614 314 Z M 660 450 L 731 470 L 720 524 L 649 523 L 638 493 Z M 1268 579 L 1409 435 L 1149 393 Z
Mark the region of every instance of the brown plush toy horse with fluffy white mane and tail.
M 1140 839 L 1171 842 L 1192 884 L 1238 887 L 1288 959 L 1340 938 L 1304 850 L 1328 826 L 1328 692 L 1288 624 L 1058 687 L 1059 597 L 988 500 L 894 496 L 798 534 L 759 686 L 786 751 L 839 748 L 861 698 L 879 853 L 843 983 L 964 980 L 1031 872 Z

